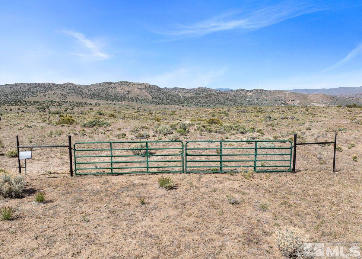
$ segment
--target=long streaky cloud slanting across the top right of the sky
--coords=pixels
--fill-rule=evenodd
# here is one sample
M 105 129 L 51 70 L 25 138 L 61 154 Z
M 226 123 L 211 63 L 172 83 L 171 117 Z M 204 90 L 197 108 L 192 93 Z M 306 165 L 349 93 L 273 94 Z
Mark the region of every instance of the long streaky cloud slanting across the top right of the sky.
M 245 8 L 223 13 L 211 19 L 197 22 L 192 25 L 182 25 L 178 30 L 165 32 L 171 36 L 203 36 L 223 30 L 257 30 L 278 22 L 326 9 L 311 3 L 279 2 L 278 4 L 260 7 Z

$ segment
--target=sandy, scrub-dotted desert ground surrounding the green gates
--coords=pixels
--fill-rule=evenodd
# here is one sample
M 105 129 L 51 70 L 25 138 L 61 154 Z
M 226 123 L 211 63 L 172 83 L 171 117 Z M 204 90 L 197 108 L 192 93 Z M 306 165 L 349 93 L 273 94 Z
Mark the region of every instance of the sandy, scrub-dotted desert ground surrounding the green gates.
M 0 109 L 0 169 L 14 176 L 16 135 L 20 145 L 67 145 L 68 135 L 75 143 L 292 140 L 297 133 L 298 142 L 320 142 L 337 133 L 336 172 L 333 144 L 298 146 L 296 173 L 240 168 L 74 177 L 68 149 L 34 148 L 24 192 L 0 198 L 13 208 L 12 218 L 1 221 L 0 257 L 283 258 L 275 231 L 284 227 L 298 228 L 311 242 L 361 240 L 361 108 L 63 102 L 46 111 Z M 187 130 L 178 130 L 183 123 Z M 161 176 L 171 177 L 171 188 L 159 186 Z M 40 203 L 37 191 L 46 194 Z

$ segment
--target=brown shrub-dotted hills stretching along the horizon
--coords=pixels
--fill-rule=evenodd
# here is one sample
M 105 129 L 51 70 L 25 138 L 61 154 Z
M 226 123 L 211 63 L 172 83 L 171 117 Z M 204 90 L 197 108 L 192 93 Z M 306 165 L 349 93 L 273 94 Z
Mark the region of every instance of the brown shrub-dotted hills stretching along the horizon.
M 207 87 L 193 89 L 179 87 L 160 88 L 148 83 L 126 81 L 103 82 L 91 85 L 76 85 L 73 83 L 14 83 L 0 85 L 0 93 L 0 105 L 31 104 L 39 106 L 39 102 L 54 104 L 54 102 L 64 101 L 201 107 L 361 104 L 359 98 L 342 98 L 323 93 L 303 94 L 292 91 L 268 91 L 262 89 L 223 89 L 221 91 Z

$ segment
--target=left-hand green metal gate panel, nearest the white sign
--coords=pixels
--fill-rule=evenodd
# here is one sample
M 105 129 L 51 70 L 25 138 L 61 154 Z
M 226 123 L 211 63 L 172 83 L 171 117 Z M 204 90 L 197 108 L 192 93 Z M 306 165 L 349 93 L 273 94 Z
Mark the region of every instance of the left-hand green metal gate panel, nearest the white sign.
M 184 172 L 182 141 L 77 142 L 73 150 L 75 175 Z

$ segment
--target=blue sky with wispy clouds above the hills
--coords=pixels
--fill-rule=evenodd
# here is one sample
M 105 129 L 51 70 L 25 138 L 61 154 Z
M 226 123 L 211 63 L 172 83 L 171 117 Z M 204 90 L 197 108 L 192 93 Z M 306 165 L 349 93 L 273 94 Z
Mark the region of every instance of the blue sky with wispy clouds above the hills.
M 0 84 L 362 85 L 361 1 L 0 2 Z

